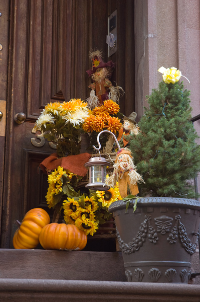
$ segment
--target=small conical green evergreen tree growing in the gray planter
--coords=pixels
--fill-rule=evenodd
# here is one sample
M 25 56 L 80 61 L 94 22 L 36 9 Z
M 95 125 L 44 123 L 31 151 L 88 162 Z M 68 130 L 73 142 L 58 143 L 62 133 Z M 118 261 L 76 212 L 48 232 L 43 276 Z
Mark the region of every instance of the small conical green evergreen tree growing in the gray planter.
M 191 179 L 200 171 L 200 146 L 188 97 L 178 82 L 161 82 L 148 97 L 139 134 L 130 137 L 134 163 L 145 181 L 140 196 L 195 197 Z

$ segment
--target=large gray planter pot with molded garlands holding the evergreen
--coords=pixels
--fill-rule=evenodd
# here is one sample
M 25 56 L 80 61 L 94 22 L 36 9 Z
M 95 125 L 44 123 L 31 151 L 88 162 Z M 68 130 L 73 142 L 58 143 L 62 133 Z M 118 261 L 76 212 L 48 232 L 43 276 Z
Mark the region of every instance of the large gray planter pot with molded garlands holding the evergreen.
M 195 253 L 200 203 L 182 198 L 139 198 L 126 211 L 125 201 L 113 213 L 125 274 L 130 282 L 188 283 Z

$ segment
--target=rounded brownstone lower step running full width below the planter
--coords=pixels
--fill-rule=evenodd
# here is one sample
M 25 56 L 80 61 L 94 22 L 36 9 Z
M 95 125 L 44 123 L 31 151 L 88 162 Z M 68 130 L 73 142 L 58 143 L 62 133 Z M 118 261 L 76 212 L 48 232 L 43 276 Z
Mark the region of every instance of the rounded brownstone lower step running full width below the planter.
M 4 302 L 197 302 L 200 285 L 83 280 L 0 279 Z

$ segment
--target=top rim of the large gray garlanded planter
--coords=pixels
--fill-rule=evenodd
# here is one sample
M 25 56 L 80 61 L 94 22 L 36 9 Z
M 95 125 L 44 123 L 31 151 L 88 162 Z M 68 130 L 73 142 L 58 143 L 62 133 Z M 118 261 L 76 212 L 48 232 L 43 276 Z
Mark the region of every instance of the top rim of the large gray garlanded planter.
M 110 213 L 126 207 L 126 200 L 114 201 L 108 211 Z M 133 205 L 135 199 L 130 199 L 129 207 Z M 174 198 L 174 197 L 144 197 L 139 198 L 137 207 L 142 206 L 182 206 L 200 210 L 200 202 L 195 199 Z

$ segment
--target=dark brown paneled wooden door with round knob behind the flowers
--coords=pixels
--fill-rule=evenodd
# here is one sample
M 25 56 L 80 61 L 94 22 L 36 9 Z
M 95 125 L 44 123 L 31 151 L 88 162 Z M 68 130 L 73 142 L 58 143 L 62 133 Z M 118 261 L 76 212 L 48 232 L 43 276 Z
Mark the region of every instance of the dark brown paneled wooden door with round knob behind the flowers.
M 33 127 L 47 103 L 89 96 L 88 53 L 94 48 L 106 53 L 108 14 L 117 3 L 10 0 L 2 248 L 12 247 L 15 221 L 29 209 L 39 206 L 48 210 L 47 175 L 38 167 L 55 150 Z M 119 3 L 123 6 L 123 1 Z M 119 64 L 117 70 L 121 78 L 124 67 Z M 20 124 L 15 121 L 18 113 L 26 115 Z

